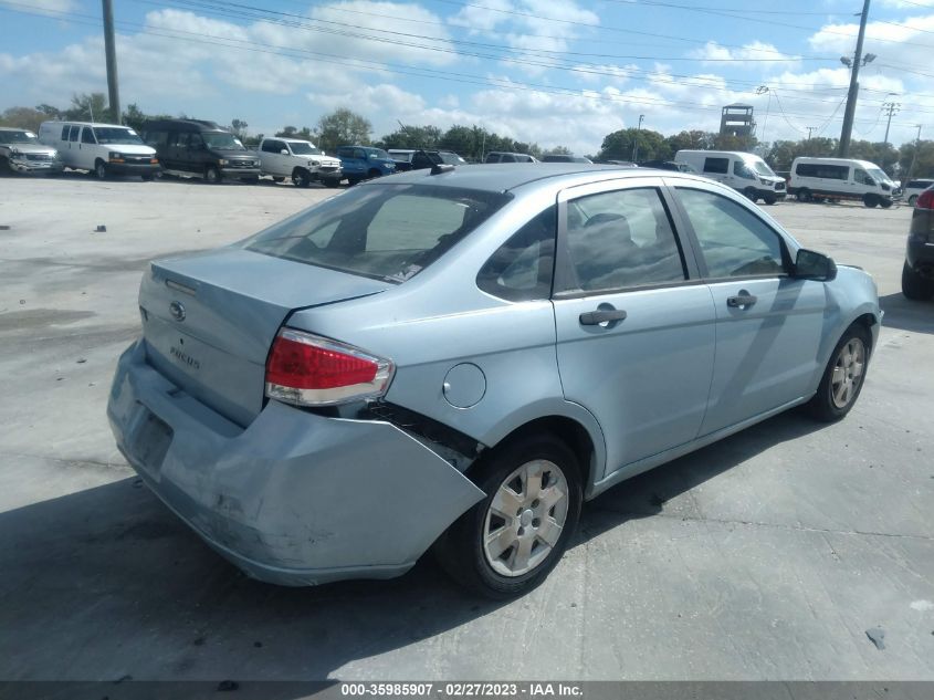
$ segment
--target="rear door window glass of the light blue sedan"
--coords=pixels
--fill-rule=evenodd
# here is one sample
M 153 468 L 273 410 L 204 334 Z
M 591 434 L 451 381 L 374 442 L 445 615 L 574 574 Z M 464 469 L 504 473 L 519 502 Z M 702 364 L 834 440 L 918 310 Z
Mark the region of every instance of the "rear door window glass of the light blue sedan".
M 681 251 L 655 188 L 601 192 L 570 201 L 567 249 L 583 291 L 685 279 Z

